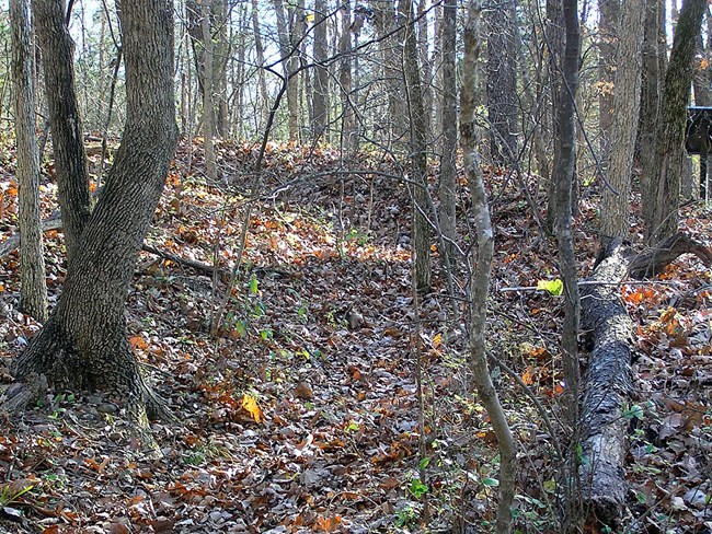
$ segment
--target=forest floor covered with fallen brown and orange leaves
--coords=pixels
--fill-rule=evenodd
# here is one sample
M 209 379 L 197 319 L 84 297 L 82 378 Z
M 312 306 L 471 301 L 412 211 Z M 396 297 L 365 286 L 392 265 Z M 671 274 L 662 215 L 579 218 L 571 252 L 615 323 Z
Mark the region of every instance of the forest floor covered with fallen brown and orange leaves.
M 451 320 L 437 246 L 433 291 L 413 301 L 409 194 L 392 177 L 403 170 L 379 153 L 342 162 L 325 149 L 271 144 L 244 263 L 213 336 L 256 148 L 223 142 L 218 153 L 225 179 L 207 185 L 199 147 L 181 143 L 147 243 L 205 264 L 217 258 L 226 272 L 214 283 L 142 253 L 129 294 L 131 345 L 180 420 L 152 425 L 163 457 L 143 454 L 120 399 L 51 392 L 0 420 L 0 532 L 491 532 L 496 442 L 472 394 L 467 326 Z M 0 242 L 16 224 L 13 158 L 1 154 Z M 561 299 L 504 291 L 555 279 L 555 246 L 512 177 L 487 176 L 496 230 L 487 337 L 516 373 L 493 372 L 519 443 L 516 527 L 556 533 L 563 475 L 554 440 L 567 448 Z M 460 186 L 467 248 L 463 177 Z M 592 189 L 582 189 L 576 224 L 582 277 L 597 252 Z M 42 194 L 49 216 L 55 186 Z M 709 207 L 687 207 L 682 219 L 712 244 Z M 632 240 L 640 230 L 631 218 Z M 10 359 L 39 328 L 16 310 L 18 269 L 16 253 L 0 259 L 0 392 Z M 47 270 L 56 302 L 59 232 L 47 234 Z M 712 532 L 711 285 L 712 272 L 684 256 L 648 283 L 621 288 L 638 328 L 629 532 Z M 561 436 L 544 430 L 521 383 Z

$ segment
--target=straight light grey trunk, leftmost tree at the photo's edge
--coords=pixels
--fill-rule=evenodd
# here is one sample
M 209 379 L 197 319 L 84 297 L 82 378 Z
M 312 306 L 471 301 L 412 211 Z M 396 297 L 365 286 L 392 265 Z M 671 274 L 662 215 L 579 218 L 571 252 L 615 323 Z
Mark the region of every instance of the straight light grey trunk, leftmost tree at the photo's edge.
M 39 153 L 35 135 L 35 95 L 30 13 L 26 0 L 10 1 L 12 91 L 19 184 L 20 307 L 39 322 L 47 320 L 47 283 L 39 213 Z

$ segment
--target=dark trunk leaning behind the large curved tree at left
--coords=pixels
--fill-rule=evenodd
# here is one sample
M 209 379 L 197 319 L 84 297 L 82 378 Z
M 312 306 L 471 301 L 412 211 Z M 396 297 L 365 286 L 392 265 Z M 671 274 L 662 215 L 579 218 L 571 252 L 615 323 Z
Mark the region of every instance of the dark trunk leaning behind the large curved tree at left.
M 82 123 L 74 91 L 74 44 L 65 24 L 64 3 L 62 0 L 34 0 L 32 12 L 42 48 L 57 193 L 65 220 L 67 258 L 71 264 L 89 220 L 90 204 Z

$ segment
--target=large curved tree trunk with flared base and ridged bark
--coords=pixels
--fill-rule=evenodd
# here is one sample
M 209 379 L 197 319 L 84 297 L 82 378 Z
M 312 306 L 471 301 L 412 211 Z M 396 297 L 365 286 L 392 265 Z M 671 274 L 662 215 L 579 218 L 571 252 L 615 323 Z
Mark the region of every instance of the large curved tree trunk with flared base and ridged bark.
M 127 111 L 122 144 L 59 302 L 12 364 L 21 380 L 44 374 L 59 387 L 118 392 L 141 425 L 147 411 L 166 414 L 131 355 L 125 302 L 176 143 L 172 8 L 170 0 L 120 2 Z

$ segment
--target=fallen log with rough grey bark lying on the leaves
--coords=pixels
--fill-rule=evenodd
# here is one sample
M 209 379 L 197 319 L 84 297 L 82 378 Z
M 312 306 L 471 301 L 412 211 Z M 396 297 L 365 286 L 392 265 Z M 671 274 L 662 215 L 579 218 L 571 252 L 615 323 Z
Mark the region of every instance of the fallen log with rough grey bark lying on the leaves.
M 582 291 L 582 323 L 594 336 L 581 419 L 583 500 L 594 523 L 600 522 L 615 532 L 621 525 L 628 490 L 624 461 L 629 420 L 623 409 L 633 387 L 633 323 L 616 283 L 627 271 L 627 255 L 616 240 L 589 279 L 604 283 L 587 285 Z

